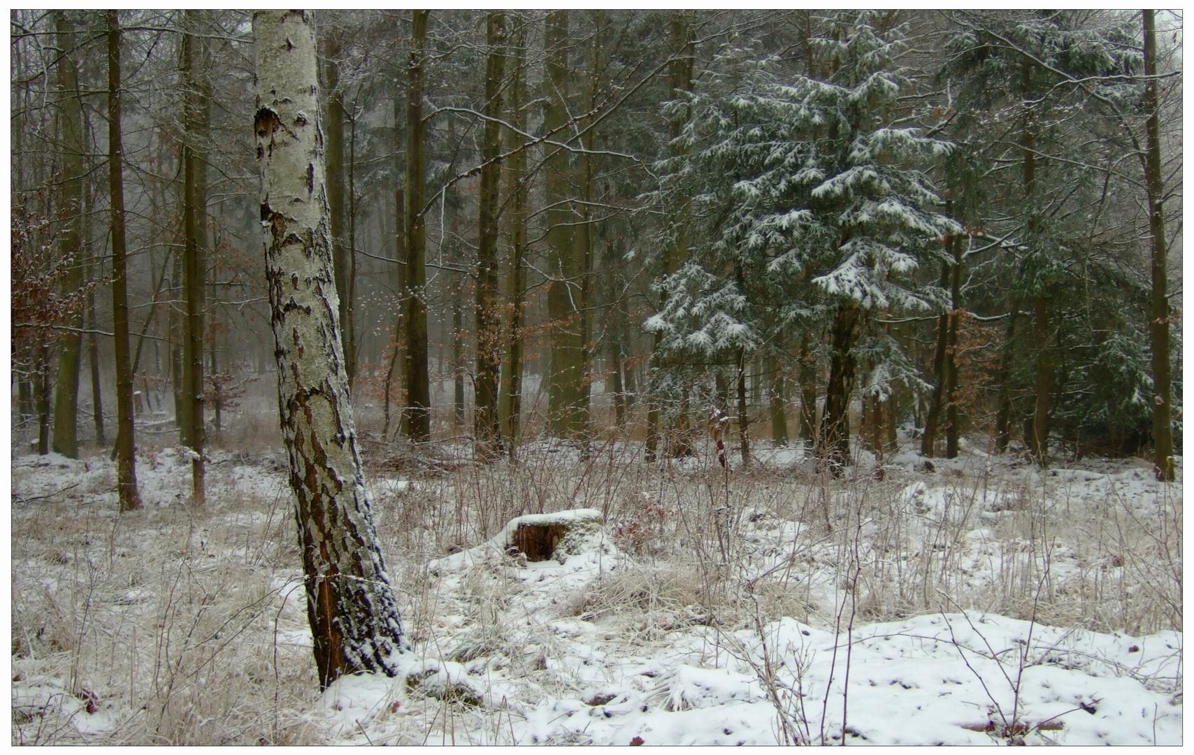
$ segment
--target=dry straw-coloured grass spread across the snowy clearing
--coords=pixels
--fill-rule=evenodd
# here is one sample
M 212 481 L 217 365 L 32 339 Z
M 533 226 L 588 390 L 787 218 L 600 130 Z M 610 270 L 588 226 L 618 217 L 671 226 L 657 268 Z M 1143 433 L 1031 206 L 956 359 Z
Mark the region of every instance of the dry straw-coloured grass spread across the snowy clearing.
M 944 480 L 948 502 L 933 509 L 905 495 L 923 475 L 833 480 L 802 467 L 726 474 L 707 448 L 694 462 L 646 465 L 614 442 L 585 459 L 538 443 L 523 448 L 517 465 L 479 465 L 444 447 L 413 489 L 396 491 L 383 479 L 396 477 L 386 469 L 401 453 L 370 450 L 370 479 L 412 640 L 435 646 L 444 613 L 462 612 L 470 630 L 441 650 L 461 662 L 504 653 L 528 677 L 548 679 L 549 649 L 524 658 L 505 633 L 503 616 L 515 608 L 505 571 L 479 570 L 447 595 L 425 565 L 513 516 L 581 507 L 603 511 L 634 561 L 559 606 L 559 615 L 604 622 L 636 642 L 665 642 L 693 624 L 734 628 L 782 615 L 832 627 L 847 606 L 858 622 L 962 607 L 1132 634 L 1182 626 L 1177 498 L 1143 505 L 1112 491 L 1078 501 L 1064 486 L 1046 495 L 1040 484 L 973 471 L 930 479 L 937 487 Z M 14 671 L 26 683 L 62 680 L 113 728 L 80 735 L 43 701 L 14 707 L 13 743 L 325 741 L 309 649 L 294 640 L 306 614 L 293 581 L 289 496 L 234 492 L 220 481 L 229 466 L 209 473 L 214 492 L 203 510 L 166 502 L 118 516 L 100 502 L 110 495 L 101 475 L 14 505 Z M 429 702 L 420 725 L 447 731 L 455 716 L 485 716 Z M 493 716 L 498 723 L 486 726 L 500 726 L 500 711 Z M 418 741 L 412 733 L 407 743 Z

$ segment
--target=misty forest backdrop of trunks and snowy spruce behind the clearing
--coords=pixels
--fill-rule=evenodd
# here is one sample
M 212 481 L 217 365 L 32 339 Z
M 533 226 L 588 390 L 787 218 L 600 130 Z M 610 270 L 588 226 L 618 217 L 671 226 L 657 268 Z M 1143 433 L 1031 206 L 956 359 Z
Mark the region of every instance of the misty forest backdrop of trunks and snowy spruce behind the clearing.
M 743 462 L 752 432 L 835 469 L 911 432 L 1171 475 L 1180 14 L 420 13 L 314 16 L 370 432 L 654 459 L 719 412 Z M 275 369 L 252 31 L 12 12 L 14 422 L 42 453 L 104 444 L 123 391 L 202 475 Z

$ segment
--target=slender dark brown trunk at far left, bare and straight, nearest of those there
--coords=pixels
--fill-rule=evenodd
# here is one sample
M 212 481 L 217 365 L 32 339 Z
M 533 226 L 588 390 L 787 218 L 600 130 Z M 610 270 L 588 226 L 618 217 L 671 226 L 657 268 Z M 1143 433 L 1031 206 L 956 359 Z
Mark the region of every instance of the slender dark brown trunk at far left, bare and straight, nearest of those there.
M 112 332 L 116 346 L 116 490 L 121 511 L 141 508 L 133 444 L 133 369 L 124 240 L 124 147 L 121 140 L 121 23 L 107 11 L 107 168 L 112 210 Z

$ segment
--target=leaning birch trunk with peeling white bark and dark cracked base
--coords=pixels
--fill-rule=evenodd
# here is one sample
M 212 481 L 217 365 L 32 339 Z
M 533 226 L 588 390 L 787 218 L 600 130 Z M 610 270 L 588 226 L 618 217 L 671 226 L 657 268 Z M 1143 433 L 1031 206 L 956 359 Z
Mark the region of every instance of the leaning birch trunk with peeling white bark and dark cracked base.
M 398 674 L 407 647 L 357 450 L 332 271 L 315 33 L 303 11 L 258 11 L 257 113 L 265 278 L 307 618 L 320 686 Z

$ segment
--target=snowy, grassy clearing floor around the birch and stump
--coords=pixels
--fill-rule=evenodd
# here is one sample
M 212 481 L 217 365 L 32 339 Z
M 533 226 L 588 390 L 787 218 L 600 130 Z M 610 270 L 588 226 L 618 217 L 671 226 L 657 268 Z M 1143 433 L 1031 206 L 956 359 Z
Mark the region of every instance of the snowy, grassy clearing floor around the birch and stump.
M 214 452 L 197 509 L 143 447 L 123 515 L 106 455 L 16 455 L 12 742 L 1182 743 L 1181 462 L 755 450 L 367 444 L 414 647 L 324 693 L 279 449 Z M 562 563 L 447 558 L 579 508 Z

